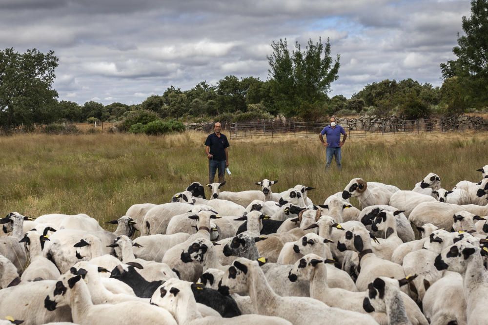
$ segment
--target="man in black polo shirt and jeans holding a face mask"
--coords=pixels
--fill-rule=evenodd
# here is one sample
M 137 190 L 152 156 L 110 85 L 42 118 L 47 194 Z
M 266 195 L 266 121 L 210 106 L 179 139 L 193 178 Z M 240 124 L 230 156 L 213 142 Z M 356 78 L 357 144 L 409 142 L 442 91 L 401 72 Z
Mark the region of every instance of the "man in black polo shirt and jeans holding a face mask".
M 222 124 L 214 124 L 214 133 L 209 134 L 205 140 L 205 153 L 208 158 L 208 183 L 214 182 L 215 172 L 219 170 L 219 183 L 225 181 L 225 168 L 229 167 L 229 154 L 227 148 L 229 141 L 220 133 Z

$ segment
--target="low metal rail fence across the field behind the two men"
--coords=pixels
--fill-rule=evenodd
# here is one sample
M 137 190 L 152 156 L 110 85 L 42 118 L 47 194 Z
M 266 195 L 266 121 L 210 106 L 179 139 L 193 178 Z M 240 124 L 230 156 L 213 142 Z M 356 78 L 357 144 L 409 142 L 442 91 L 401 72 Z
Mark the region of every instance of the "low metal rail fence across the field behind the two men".
M 357 125 L 357 124 L 361 125 Z M 287 121 L 257 121 L 230 123 L 230 138 L 244 139 L 259 136 L 267 137 L 316 137 L 327 122 L 297 122 Z M 420 134 L 446 132 L 442 119 L 432 118 L 423 120 L 402 121 L 357 121 L 355 127 L 349 127 L 346 123 L 341 125 L 348 138 L 365 138 L 375 135 L 394 134 Z

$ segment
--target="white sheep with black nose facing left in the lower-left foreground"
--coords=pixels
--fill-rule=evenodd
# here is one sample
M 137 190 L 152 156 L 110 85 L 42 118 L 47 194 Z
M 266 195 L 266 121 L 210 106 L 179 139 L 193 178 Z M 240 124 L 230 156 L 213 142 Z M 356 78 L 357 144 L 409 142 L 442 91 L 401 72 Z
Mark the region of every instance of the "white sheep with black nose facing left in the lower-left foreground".
M 167 324 L 177 325 L 171 314 L 163 308 L 139 301 L 119 304 L 93 305 L 90 291 L 81 275 L 63 274 L 58 279 L 55 290 L 49 292 L 45 307 L 55 310 L 58 306 L 70 306 L 73 322 L 80 325 L 91 324 Z

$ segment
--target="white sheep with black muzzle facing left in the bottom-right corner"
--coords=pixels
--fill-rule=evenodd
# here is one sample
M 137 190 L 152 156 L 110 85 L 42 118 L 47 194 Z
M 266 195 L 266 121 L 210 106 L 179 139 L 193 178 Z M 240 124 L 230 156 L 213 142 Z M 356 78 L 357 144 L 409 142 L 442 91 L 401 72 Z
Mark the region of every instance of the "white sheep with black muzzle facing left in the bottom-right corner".
M 462 275 L 468 324 L 485 324 L 488 317 L 484 303 L 488 296 L 488 283 L 482 255 L 488 255 L 486 248 L 480 249 L 461 240 L 443 249 L 435 258 L 434 265 L 438 270 L 447 269 Z

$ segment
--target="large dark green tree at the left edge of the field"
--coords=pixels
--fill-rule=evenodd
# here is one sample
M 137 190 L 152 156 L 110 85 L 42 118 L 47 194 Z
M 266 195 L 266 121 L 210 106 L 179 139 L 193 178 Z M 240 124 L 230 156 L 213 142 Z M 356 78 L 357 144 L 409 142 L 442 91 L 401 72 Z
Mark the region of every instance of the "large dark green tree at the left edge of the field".
M 59 118 L 58 92 L 51 88 L 58 61 L 54 51 L 0 51 L 0 125 L 4 130 Z

